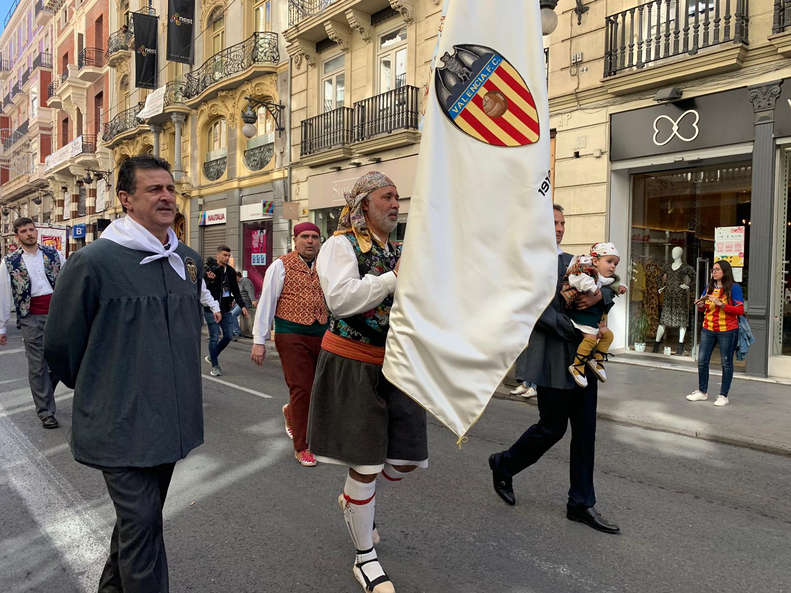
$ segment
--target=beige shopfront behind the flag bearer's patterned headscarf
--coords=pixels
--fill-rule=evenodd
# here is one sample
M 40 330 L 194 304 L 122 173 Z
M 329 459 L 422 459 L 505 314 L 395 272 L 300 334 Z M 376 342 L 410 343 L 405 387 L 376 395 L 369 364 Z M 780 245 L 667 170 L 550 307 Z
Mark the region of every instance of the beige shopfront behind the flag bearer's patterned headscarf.
M 308 209 L 313 223 L 321 231 L 321 240 L 327 240 L 338 229 L 341 210 L 345 205 L 343 195 L 350 192 L 357 179 L 369 171 L 380 171 L 392 179 L 399 191 L 399 224 L 390 234 L 395 242 L 403 241 L 407 230 L 409 198 L 414 186 L 414 171 L 418 157 L 403 157 L 382 161 L 365 167 L 344 169 L 308 177 Z

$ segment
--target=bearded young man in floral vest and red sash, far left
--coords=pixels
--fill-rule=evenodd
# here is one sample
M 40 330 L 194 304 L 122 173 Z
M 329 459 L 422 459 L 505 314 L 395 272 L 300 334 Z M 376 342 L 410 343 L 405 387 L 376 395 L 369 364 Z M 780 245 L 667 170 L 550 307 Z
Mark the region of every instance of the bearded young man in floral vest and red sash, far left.
M 6 255 L 0 266 L 0 346 L 6 346 L 6 323 L 11 305 L 22 330 L 28 358 L 28 383 L 41 425 L 57 429 L 55 385 L 58 380 L 44 360 L 44 327 L 50 311 L 52 291 L 66 259 L 55 247 L 39 245 L 39 232 L 32 219 L 13 221 L 13 234 L 21 249 Z

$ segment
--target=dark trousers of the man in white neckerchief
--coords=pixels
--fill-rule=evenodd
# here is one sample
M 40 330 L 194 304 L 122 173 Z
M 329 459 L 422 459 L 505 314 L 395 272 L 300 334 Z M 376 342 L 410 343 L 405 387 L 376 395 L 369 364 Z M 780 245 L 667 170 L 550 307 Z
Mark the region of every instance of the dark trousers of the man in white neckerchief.
M 102 471 L 115 505 L 115 527 L 99 593 L 168 593 L 162 507 L 175 465 Z

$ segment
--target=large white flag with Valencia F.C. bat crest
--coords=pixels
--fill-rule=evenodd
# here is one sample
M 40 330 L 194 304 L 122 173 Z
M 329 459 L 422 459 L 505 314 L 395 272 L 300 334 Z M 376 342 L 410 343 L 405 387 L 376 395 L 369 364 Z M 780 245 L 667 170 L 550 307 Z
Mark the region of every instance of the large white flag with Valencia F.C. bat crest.
M 557 283 L 539 2 L 450 0 L 437 56 L 383 372 L 464 436 Z

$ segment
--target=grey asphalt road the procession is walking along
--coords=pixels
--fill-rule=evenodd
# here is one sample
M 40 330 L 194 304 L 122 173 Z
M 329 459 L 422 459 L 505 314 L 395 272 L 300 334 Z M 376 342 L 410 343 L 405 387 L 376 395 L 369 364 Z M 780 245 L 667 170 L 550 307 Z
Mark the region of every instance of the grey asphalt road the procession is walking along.
M 225 383 L 204 380 L 206 443 L 176 466 L 171 591 L 360 591 L 336 502 L 344 471 L 293 459 L 278 358 L 256 368 L 249 347 L 223 354 Z M 0 591 L 96 591 L 112 504 L 100 472 L 70 455 L 65 387 L 61 428 L 41 428 L 21 348 L 12 333 L 0 349 Z M 565 517 L 570 435 L 516 478 L 516 507 L 491 489 L 487 456 L 536 417 L 493 400 L 461 451 L 430 421 L 429 469 L 377 497 L 377 550 L 396 591 L 791 590 L 791 459 L 600 422 L 598 508 L 623 531 L 600 534 Z

